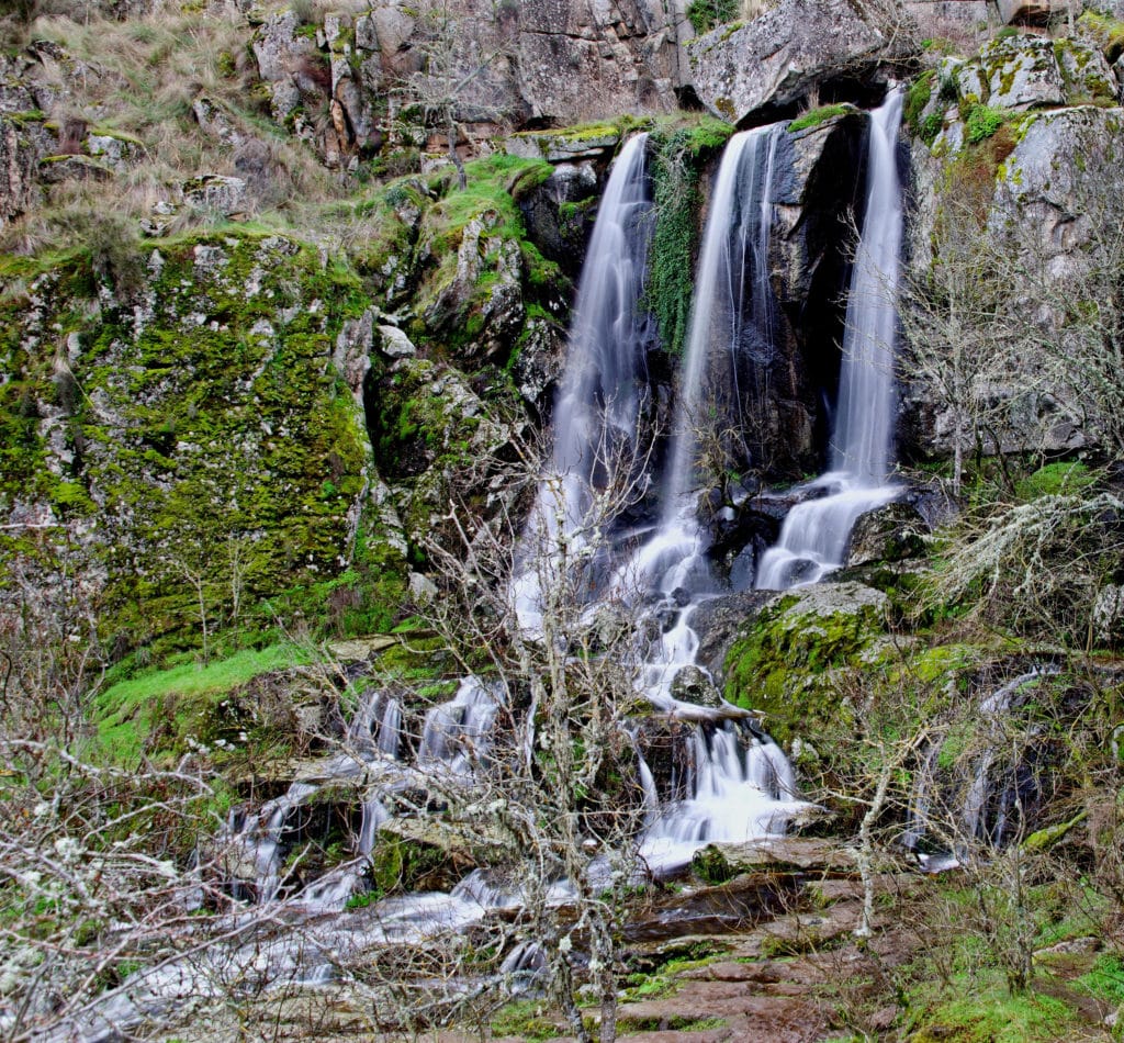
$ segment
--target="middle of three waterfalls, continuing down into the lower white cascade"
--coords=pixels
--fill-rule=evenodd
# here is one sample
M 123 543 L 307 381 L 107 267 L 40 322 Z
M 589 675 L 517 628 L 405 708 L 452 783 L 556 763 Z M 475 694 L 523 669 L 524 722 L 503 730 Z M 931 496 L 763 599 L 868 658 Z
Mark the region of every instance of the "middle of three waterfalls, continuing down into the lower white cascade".
M 716 417 L 744 426 L 743 401 L 751 389 L 738 386 L 740 374 L 752 371 L 746 361 L 772 342 L 769 238 L 783 134 L 779 125 L 737 134 L 723 154 L 703 238 L 662 517 L 616 575 L 625 597 L 637 589 L 662 596 L 653 611 L 662 633 L 642 668 L 645 695 L 678 718 L 699 722 L 689 741 L 682 799 L 649 816 L 641 854 L 656 876 L 673 872 L 711 841 L 782 834 L 789 816 L 806 806 L 796 797 L 780 747 L 731 719 L 738 710 L 728 704 L 696 706 L 673 695 L 680 671 L 700 669 L 692 602 L 717 592 L 694 504 L 704 481 L 701 433 Z

